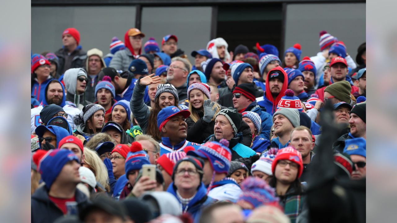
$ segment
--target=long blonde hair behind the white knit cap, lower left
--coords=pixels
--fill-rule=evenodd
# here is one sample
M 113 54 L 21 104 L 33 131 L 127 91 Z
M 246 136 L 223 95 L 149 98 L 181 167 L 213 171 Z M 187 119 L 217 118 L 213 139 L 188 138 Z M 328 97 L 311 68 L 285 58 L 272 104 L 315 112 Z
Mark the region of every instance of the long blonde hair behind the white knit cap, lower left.
M 108 192 L 110 191 L 108 169 L 99 158 L 98 154 L 88 147 L 84 147 L 84 163 L 89 165 L 93 171 L 96 181 L 100 183 Z

